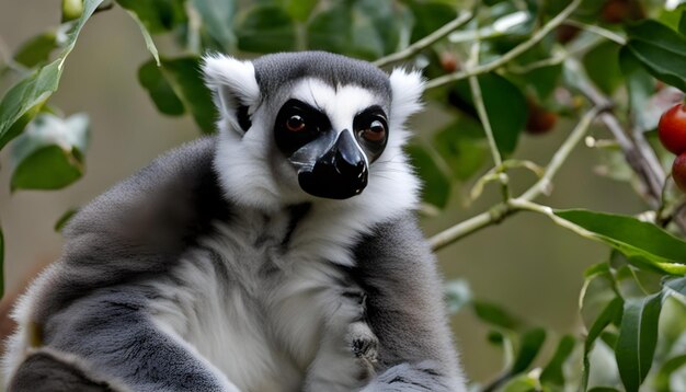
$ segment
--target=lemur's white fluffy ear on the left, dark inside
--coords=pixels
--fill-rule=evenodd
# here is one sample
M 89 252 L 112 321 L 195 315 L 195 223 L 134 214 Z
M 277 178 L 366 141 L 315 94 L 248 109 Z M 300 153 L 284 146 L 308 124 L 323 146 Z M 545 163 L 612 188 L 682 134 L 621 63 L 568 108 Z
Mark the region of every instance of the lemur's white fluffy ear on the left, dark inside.
M 251 125 L 250 115 L 260 102 L 260 87 L 250 61 L 224 55 L 203 58 L 205 83 L 211 90 L 221 116 L 220 126 L 243 134 Z

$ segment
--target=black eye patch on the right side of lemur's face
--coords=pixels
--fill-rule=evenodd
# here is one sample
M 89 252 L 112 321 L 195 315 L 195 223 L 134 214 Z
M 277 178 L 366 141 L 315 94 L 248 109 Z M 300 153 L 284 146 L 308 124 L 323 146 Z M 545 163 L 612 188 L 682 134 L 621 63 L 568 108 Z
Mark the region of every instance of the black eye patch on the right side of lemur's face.
M 357 142 L 373 162 L 386 148 L 388 142 L 388 117 L 381 106 L 369 106 L 359 112 L 353 120 Z

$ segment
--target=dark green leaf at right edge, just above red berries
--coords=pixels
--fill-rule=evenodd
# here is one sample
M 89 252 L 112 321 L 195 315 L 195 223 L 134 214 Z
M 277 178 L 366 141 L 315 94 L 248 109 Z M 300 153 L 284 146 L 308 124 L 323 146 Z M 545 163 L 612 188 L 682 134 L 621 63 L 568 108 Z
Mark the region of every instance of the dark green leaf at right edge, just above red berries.
M 627 27 L 626 47 L 655 78 L 686 91 L 686 37 L 654 20 Z

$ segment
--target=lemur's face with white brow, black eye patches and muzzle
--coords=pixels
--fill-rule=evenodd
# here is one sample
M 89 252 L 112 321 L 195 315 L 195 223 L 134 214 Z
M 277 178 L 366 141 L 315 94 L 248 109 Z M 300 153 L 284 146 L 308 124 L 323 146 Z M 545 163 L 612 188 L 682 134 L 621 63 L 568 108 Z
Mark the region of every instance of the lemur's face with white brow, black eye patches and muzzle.
M 300 188 L 334 199 L 361 194 L 388 141 L 387 103 L 359 87 L 333 89 L 316 79 L 293 91 L 276 115 L 274 140 Z

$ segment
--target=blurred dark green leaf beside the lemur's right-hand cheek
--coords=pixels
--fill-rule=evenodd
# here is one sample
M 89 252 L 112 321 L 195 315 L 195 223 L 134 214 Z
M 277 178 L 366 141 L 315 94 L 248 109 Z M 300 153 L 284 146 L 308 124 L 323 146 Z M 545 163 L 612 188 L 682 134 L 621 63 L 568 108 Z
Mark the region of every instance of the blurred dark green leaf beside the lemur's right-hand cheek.
M 450 198 L 450 181 L 443 169 L 444 164 L 438 163 L 439 158 L 419 145 L 410 145 L 405 151 L 424 183 L 422 200 L 432 206 L 445 208 Z

